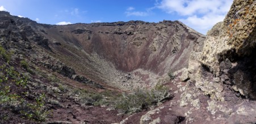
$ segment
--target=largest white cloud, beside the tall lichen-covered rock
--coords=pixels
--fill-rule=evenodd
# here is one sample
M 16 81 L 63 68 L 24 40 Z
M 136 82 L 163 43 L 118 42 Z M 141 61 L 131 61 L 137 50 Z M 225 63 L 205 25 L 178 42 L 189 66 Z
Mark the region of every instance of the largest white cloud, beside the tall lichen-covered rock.
M 157 1 L 158 2 L 158 1 Z M 184 24 L 206 34 L 207 30 L 223 21 L 233 0 L 162 0 L 157 7 L 169 14 L 182 16 Z

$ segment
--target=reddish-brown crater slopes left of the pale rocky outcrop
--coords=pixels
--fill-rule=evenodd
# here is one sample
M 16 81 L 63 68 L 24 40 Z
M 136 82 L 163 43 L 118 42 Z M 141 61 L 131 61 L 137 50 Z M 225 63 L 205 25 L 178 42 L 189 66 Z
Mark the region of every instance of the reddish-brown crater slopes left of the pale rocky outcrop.
M 2 65 L 26 77 L 24 89 L 15 85 L 16 79 L 3 83 L 2 90 L 5 86 L 11 89 L 2 98 L 18 94 L 18 98 L 2 101 L 6 111 L 1 113 L 3 123 L 120 122 L 127 114 L 116 116 L 118 112 L 141 112 L 170 100 L 170 87 L 164 86 L 170 82 L 168 73 L 187 68 L 190 52 L 200 52 L 205 38 L 179 21 L 57 26 L 37 24 L 8 12 L 1 12 L 0 20 Z M 9 72 L 3 72 L 3 77 L 6 73 Z M 16 91 L 18 87 L 23 92 Z M 150 92 L 145 91 L 145 95 L 152 95 L 145 97 L 152 97 L 153 101 L 142 101 L 142 106 L 135 103 L 131 110 L 115 106 L 122 99 L 121 92 L 138 88 L 142 94 L 148 89 Z M 14 109 L 23 106 L 13 112 L 8 105 Z

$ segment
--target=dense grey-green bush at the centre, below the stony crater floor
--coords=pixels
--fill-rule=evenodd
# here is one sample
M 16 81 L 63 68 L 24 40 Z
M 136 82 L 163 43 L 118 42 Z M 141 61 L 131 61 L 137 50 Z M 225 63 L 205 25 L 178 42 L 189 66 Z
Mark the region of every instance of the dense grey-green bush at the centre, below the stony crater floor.
M 165 86 L 156 86 L 152 90 L 136 89 L 132 94 L 123 94 L 115 101 L 115 108 L 120 113 L 141 112 L 157 103 L 171 97 L 169 90 Z

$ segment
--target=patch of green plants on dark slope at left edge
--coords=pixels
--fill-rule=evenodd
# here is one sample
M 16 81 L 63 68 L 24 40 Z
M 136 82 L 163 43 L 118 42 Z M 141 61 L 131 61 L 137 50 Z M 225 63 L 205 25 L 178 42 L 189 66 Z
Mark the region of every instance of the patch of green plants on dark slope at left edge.
M 2 65 L 0 70 L 0 110 L 11 110 L 25 118 L 44 121 L 48 114 L 44 108 L 45 95 L 39 95 L 35 103 L 28 102 L 24 99 L 28 95 L 28 92 L 24 92 L 27 88 L 27 77 L 7 65 Z M 0 117 L 9 119 L 9 114 L 1 113 Z

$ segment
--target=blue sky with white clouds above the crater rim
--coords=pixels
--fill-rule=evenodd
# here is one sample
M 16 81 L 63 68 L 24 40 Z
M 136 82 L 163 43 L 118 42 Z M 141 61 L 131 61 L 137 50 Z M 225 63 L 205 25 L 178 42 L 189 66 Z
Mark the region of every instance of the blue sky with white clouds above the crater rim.
M 179 20 L 206 34 L 233 0 L 0 0 L 0 11 L 44 24 Z

